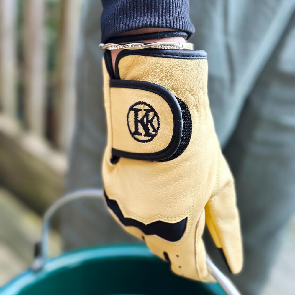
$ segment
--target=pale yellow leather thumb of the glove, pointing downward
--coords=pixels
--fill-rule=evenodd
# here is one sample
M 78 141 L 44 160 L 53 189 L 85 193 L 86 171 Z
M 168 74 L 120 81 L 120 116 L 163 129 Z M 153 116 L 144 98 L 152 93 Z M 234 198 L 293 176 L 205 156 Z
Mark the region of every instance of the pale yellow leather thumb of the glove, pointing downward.
M 216 247 L 223 250 L 230 271 L 240 272 L 243 265 L 242 237 L 232 180 L 209 199 L 205 210 L 206 224 Z

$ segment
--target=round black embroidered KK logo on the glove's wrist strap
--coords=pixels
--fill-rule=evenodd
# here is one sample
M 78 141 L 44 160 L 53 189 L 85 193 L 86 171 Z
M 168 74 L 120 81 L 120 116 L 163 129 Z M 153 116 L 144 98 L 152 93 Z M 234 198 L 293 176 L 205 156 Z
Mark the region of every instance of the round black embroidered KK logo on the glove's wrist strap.
M 150 104 L 139 101 L 130 106 L 127 124 L 131 136 L 136 141 L 149 142 L 158 134 L 160 118 Z

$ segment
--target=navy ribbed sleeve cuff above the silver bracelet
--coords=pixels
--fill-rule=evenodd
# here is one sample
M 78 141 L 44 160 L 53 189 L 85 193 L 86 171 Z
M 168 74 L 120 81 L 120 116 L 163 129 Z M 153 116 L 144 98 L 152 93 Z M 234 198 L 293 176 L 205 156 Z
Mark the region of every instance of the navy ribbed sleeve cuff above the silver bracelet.
M 194 33 L 189 0 L 102 0 L 101 42 L 143 28 L 170 28 Z

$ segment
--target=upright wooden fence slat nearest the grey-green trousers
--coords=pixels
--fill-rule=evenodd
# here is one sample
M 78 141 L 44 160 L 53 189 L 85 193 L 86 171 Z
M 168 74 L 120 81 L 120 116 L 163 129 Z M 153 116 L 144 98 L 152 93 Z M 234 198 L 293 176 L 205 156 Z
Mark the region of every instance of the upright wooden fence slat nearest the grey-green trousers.
M 81 0 L 61 1 L 58 44 L 57 97 L 55 101 L 55 141 L 68 150 L 75 118 L 75 53 Z

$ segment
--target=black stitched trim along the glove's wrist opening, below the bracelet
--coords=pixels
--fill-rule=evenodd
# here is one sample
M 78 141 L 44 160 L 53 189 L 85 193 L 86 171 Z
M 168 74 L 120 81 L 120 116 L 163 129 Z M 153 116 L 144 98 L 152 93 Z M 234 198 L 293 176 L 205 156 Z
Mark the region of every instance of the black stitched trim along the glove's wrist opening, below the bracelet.
M 115 78 L 120 79 L 119 61 L 127 55 L 143 55 L 156 56 L 163 58 L 177 58 L 177 59 L 207 59 L 207 53 L 204 50 L 172 50 L 172 49 L 138 49 L 128 50 L 124 49 L 117 55 L 115 62 Z

